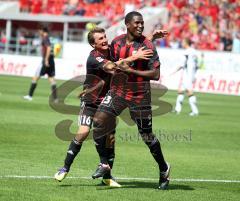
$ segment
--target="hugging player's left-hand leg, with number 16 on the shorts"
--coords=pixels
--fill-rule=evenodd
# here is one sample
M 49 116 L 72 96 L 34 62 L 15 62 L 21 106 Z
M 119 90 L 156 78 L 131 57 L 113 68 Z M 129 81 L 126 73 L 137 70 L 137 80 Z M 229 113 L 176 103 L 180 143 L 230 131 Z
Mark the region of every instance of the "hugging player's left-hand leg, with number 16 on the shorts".
M 64 166 L 55 174 L 55 179 L 62 181 L 70 171 L 71 165 L 81 150 L 82 143 L 86 140 L 89 135 L 92 118 L 96 112 L 95 107 L 86 106 L 84 102 L 81 103 L 81 110 L 79 115 L 79 128 L 76 136 L 71 141 L 67 154 L 64 160 Z

